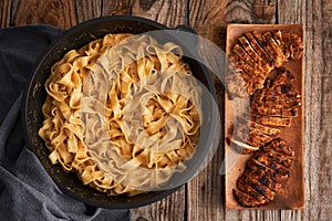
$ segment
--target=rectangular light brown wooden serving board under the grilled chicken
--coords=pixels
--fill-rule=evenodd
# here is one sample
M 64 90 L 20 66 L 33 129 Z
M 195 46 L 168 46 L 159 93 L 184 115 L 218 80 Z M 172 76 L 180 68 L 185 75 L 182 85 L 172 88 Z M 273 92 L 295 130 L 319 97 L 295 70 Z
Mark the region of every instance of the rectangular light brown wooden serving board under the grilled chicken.
M 251 31 L 266 32 L 271 30 L 283 30 L 295 33 L 303 39 L 303 28 L 301 24 L 229 24 L 227 27 L 226 53 L 229 54 L 232 45 L 238 38 L 246 32 Z M 304 42 L 305 43 L 305 42 Z M 240 206 L 232 193 L 236 188 L 238 177 L 243 172 L 246 161 L 251 155 L 240 155 L 235 151 L 228 144 L 228 138 L 232 135 L 236 116 L 242 112 L 248 112 L 249 98 L 229 99 L 225 94 L 225 182 L 226 182 L 226 209 L 304 209 L 304 178 L 303 178 L 303 74 L 302 59 L 300 61 L 288 61 L 283 64 L 286 69 L 291 71 L 295 76 L 293 85 L 301 92 L 301 106 L 299 116 L 292 119 L 291 127 L 279 127 L 281 129 L 280 137 L 287 140 L 294 149 L 295 160 L 290 178 L 286 181 L 283 189 L 277 193 L 273 201 L 257 208 L 245 208 Z

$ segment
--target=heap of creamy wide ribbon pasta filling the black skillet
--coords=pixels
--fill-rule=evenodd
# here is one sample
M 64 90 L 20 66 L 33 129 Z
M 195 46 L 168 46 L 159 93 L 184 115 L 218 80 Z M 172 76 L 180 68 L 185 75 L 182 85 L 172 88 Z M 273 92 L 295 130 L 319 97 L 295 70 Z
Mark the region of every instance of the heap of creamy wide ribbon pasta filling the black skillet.
M 158 190 L 184 171 L 203 119 L 181 53 L 146 34 L 106 34 L 68 52 L 45 82 L 39 135 L 51 162 L 110 194 Z

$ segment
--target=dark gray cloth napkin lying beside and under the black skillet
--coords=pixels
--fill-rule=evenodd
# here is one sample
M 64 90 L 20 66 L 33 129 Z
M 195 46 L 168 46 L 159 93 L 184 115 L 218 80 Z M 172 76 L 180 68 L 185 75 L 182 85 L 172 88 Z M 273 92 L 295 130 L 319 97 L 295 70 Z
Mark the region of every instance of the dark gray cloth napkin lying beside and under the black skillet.
M 22 91 L 38 56 L 62 32 L 48 25 L 0 30 L 0 220 L 132 220 L 129 210 L 93 208 L 65 196 L 27 148 Z

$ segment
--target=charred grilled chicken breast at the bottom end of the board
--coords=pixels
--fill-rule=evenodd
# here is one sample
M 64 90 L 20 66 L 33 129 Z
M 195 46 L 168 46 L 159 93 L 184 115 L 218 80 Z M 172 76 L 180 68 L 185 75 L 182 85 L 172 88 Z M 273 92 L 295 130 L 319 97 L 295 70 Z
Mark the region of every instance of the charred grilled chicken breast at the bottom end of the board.
M 234 189 L 236 200 L 243 207 L 274 200 L 291 173 L 293 156 L 292 148 L 280 138 L 264 145 L 247 161 L 245 172 L 238 178 Z

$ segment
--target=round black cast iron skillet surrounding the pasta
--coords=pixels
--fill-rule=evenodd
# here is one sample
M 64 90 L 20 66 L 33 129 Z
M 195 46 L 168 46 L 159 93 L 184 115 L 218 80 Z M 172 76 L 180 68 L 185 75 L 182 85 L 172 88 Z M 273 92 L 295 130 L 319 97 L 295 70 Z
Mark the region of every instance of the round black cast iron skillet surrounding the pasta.
M 184 30 L 184 27 L 179 27 Z M 93 207 L 103 207 L 108 209 L 129 209 L 135 207 L 142 207 L 157 200 L 160 200 L 172 192 L 176 188 L 163 191 L 153 191 L 134 197 L 127 196 L 107 196 L 106 193 L 98 192 L 89 186 L 84 186 L 73 172 L 64 172 L 59 165 L 52 165 L 49 160 L 49 150 L 46 149 L 44 141 L 39 137 L 38 131 L 42 126 L 43 115 L 42 105 L 45 101 L 44 82 L 50 74 L 51 66 L 59 61 L 69 50 L 80 49 L 92 40 L 104 36 L 106 33 L 143 33 L 147 31 L 156 30 L 169 30 L 167 27 L 156 23 L 151 20 L 137 18 L 137 17 L 104 17 L 87 22 L 81 23 L 65 33 L 63 33 L 56 41 L 54 41 L 49 49 L 42 54 L 37 62 L 35 69 L 32 73 L 30 83 L 25 91 L 23 102 L 23 123 L 25 123 L 24 129 L 27 135 L 27 141 L 29 147 L 34 151 L 43 168 L 55 181 L 59 188 L 66 194 L 80 200 L 86 204 Z M 184 45 L 184 41 L 180 41 L 176 35 L 168 33 L 162 34 L 158 40 L 160 43 L 173 41 L 178 43 L 184 50 L 185 54 L 190 54 L 193 50 L 188 50 L 188 45 Z M 193 46 L 193 45 L 189 45 Z M 191 54 L 195 57 L 197 54 Z M 212 82 L 207 73 L 207 70 L 199 62 L 184 57 L 184 61 L 189 63 L 195 77 L 203 82 L 206 87 L 216 97 Z M 211 134 L 214 128 L 214 113 L 212 108 L 209 108 L 211 101 L 205 99 L 203 106 L 204 109 L 204 124 L 201 129 L 205 134 Z M 204 161 L 208 151 L 208 146 L 211 145 L 212 137 L 206 136 L 199 139 L 197 149 L 193 159 L 188 160 L 188 169 L 178 176 L 173 178 L 173 182 L 188 180 L 200 164 Z

